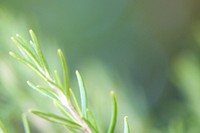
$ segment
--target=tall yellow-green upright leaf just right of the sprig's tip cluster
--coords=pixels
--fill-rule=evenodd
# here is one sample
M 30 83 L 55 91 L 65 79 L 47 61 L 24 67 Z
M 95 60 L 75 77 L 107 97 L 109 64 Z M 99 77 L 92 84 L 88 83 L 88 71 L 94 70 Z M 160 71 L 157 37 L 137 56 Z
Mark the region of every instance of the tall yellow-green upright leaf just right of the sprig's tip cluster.
M 64 92 L 66 95 L 69 95 L 69 75 L 68 75 L 67 62 L 65 60 L 65 57 L 64 57 L 61 49 L 58 49 L 58 55 L 59 55 L 61 63 L 62 63 L 64 86 L 66 89 Z

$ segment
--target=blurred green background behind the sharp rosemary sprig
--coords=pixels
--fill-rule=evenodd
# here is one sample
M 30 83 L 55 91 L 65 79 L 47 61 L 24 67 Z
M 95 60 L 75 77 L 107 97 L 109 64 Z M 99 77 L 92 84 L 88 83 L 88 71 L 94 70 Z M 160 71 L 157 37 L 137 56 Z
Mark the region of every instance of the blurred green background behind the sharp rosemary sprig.
M 121 112 L 116 132 L 128 115 L 135 133 L 199 133 L 199 7 L 196 0 L 1 0 L 0 119 L 17 133 L 23 130 L 22 112 L 52 110 L 48 99 L 25 84 L 38 79 L 8 55 L 15 49 L 10 37 L 29 38 L 31 28 L 52 69 L 60 67 L 56 49 L 64 51 L 74 88 L 74 71 L 80 70 L 105 129 L 109 91 L 115 90 Z M 30 117 L 33 132 L 63 132 Z

